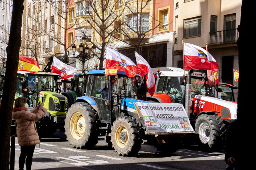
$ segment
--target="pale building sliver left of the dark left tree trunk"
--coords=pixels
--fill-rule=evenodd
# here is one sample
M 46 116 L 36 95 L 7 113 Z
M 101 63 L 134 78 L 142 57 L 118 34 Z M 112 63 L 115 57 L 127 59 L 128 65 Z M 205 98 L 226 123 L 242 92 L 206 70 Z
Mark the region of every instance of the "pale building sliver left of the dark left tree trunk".
M 0 2 L 0 69 L 6 62 L 6 47 L 10 32 L 12 3 L 12 0 L 1 0 Z

